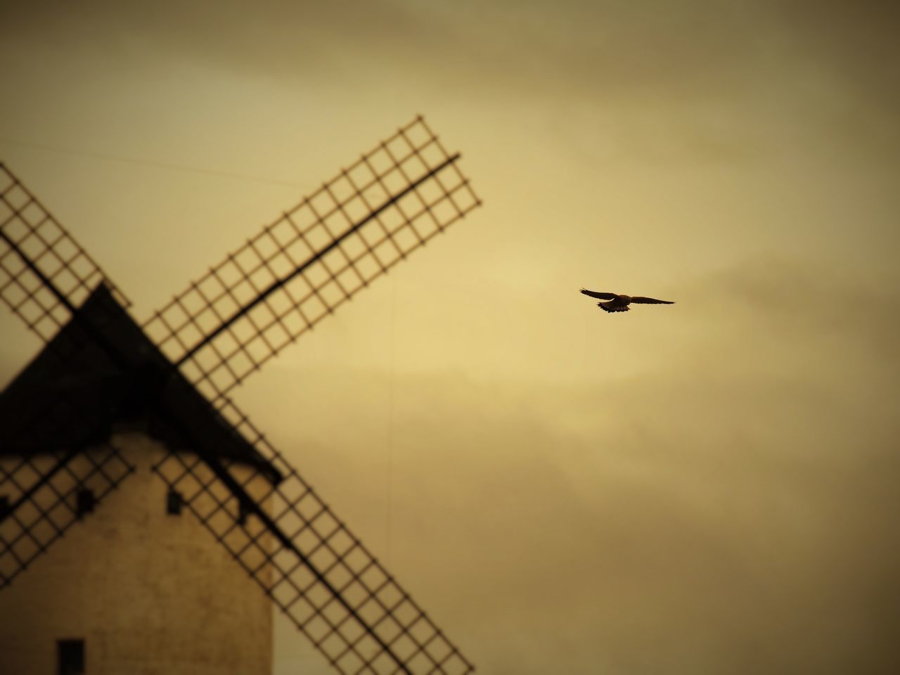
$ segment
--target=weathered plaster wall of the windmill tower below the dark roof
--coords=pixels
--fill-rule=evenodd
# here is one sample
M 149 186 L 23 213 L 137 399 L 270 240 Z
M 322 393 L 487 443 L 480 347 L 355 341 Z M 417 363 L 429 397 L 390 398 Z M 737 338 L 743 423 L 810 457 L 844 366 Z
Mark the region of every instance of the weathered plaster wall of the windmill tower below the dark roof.
M 54 675 L 74 638 L 87 675 L 271 673 L 266 594 L 188 509 L 166 513 L 162 446 L 116 445 L 137 472 L 0 590 L 0 675 Z

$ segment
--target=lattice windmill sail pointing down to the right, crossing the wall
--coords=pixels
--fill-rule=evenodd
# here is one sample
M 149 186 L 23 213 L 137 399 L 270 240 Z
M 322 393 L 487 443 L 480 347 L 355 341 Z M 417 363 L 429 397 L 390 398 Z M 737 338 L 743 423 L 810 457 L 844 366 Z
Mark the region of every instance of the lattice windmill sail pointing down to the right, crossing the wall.
M 223 400 L 220 411 L 280 474 L 277 482 L 243 467 L 233 475 L 265 510 L 242 512 L 194 457 L 169 453 L 154 471 L 329 663 L 347 675 L 474 671 L 233 401 Z

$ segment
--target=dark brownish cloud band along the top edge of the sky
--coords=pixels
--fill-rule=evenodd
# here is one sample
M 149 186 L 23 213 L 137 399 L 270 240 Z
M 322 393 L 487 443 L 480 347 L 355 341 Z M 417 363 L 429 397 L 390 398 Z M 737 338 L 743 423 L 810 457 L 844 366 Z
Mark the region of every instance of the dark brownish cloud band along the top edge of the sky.
M 461 68 L 469 81 L 558 94 L 576 87 L 593 96 L 639 100 L 737 92 L 783 77 L 797 52 L 825 60 L 849 83 L 878 94 L 896 45 L 887 4 L 827 3 L 814 14 L 798 4 L 631 5 L 543 2 L 272 0 L 253 12 L 237 2 L 130 3 L 100 0 L 77 7 L 41 3 L 10 8 L 10 37 L 52 47 L 152 49 L 237 70 L 352 74 L 355 62 L 394 67 Z M 52 40 L 52 41 L 51 41 Z M 476 71 L 486 77 L 473 78 Z M 866 74 L 869 74 L 866 76 Z M 891 76 L 892 77 L 892 76 Z M 896 103 L 896 101 L 894 101 Z

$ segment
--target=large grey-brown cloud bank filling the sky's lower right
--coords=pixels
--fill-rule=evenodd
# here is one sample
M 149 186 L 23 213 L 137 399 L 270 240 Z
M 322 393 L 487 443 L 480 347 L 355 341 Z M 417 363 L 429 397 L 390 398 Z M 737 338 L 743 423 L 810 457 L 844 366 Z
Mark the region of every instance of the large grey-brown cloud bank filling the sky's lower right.
M 401 376 L 389 408 L 383 374 L 309 368 L 270 393 L 316 420 L 307 478 L 484 671 L 889 671 L 897 297 L 834 281 L 723 270 L 624 381 Z

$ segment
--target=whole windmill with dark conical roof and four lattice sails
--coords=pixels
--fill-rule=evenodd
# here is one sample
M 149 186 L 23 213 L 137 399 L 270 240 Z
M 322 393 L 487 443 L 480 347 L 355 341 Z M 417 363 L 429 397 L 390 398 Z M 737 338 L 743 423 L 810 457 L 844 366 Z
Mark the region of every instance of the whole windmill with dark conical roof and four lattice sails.
M 112 672 L 126 658 L 117 640 L 128 643 L 127 658 L 147 652 L 168 672 L 180 672 L 180 658 L 193 660 L 184 672 L 263 671 L 271 667 L 265 655 L 230 663 L 244 651 L 229 651 L 228 643 L 252 633 L 250 619 L 262 617 L 260 608 L 270 608 L 270 602 L 341 673 L 473 671 L 229 398 L 296 338 L 480 205 L 459 170 L 459 157 L 416 118 L 141 325 L 94 259 L 0 165 L 0 298 L 45 343 L 0 394 L 0 671 L 7 658 L 17 664 L 16 672 L 48 672 L 48 660 L 56 658 L 60 672 L 81 672 L 85 661 L 105 654 L 119 664 L 103 670 Z M 147 510 L 142 500 L 162 493 L 166 515 L 157 518 L 156 507 Z M 114 508 L 104 509 L 113 502 Z M 132 508 L 146 510 L 140 511 L 139 527 L 127 520 Z M 174 526 L 168 524 L 174 521 L 165 518 L 183 510 L 194 518 L 177 526 L 181 539 L 172 539 Z M 98 525 L 88 535 L 92 520 Z M 200 527 L 209 536 L 195 536 Z M 169 534 L 159 540 L 142 539 L 163 529 Z M 79 536 L 87 542 L 81 548 Z M 130 554 L 98 550 L 120 540 L 131 542 Z M 173 541 L 189 554 L 173 552 Z M 222 547 L 228 555 L 211 553 L 220 554 Z M 61 569 L 53 565 L 57 552 Z M 220 560 L 227 571 L 213 570 Z M 166 575 L 154 573 L 163 567 Z M 29 568 L 34 569 L 23 574 Z M 129 569 L 140 569 L 140 579 L 131 579 L 138 573 Z M 158 635 L 166 637 L 156 641 L 103 634 L 101 645 L 92 646 L 56 634 L 56 656 L 40 659 L 28 649 L 43 647 L 3 644 L 4 629 L 9 635 L 18 630 L 21 638 L 23 622 L 34 632 L 71 632 L 71 626 L 116 620 L 96 619 L 112 611 L 105 606 L 76 621 L 59 616 L 84 614 L 82 606 L 94 601 L 72 595 L 70 587 L 78 586 L 73 575 L 107 572 L 113 578 L 97 581 L 97 597 L 107 587 L 117 592 L 117 583 L 127 587 L 122 592 L 150 602 L 200 589 L 193 599 L 200 607 L 185 610 L 185 618 L 157 617 L 154 611 L 135 619 L 135 633 L 159 626 Z M 220 573 L 230 574 L 229 581 L 208 588 L 209 578 Z M 251 578 L 264 593 L 238 597 L 232 587 L 243 588 L 243 581 L 235 581 L 235 574 Z M 39 575 L 46 580 L 33 593 L 49 588 L 49 597 L 36 602 L 36 595 L 20 593 L 4 607 L 4 596 Z M 182 576 L 192 581 L 182 583 Z M 219 593 L 229 592 L 214 617 L 203 614 L 204 604 L 215 605 Z M 63 599 L 68 605 L 59 609 Z M 129 601 L 107 604 L 125 621 L 127 608 L 119 606 Z M 229 621 L 217 634 L 216 626 Z M 193 635 L 185 640 L 175 637 L 178 631 L 166 632 L 172 622 L 182 622 L 180 632 L 193 626 Z M 203 640 L 216 644 L 202 646 L 198 656 L 195 644 Z M 166 650 L 174 651 L 164 658 Z

